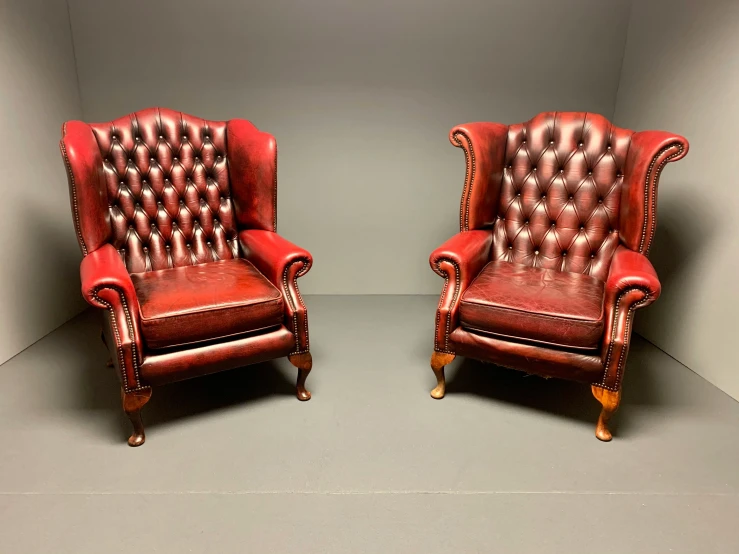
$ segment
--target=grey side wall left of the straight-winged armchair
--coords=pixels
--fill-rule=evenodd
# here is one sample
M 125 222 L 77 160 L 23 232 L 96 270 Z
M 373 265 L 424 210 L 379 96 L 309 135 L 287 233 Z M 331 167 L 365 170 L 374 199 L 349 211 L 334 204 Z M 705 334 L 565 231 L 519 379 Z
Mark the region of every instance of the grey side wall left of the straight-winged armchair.
M 81 114 L 64 0 L 0 0 L 0 363 L 79 312 L 59 132 Z

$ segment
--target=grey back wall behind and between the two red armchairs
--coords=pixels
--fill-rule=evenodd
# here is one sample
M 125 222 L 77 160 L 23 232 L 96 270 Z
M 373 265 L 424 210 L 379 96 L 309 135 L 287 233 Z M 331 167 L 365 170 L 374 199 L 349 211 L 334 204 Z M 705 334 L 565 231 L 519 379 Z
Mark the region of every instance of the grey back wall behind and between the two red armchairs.
M 449 129 L 613 115 L 627 0 L 70 0 L 84 116 L 152 105 L 277 137 L 279 232 L 312 293 L 438 293 L 458 230 Z

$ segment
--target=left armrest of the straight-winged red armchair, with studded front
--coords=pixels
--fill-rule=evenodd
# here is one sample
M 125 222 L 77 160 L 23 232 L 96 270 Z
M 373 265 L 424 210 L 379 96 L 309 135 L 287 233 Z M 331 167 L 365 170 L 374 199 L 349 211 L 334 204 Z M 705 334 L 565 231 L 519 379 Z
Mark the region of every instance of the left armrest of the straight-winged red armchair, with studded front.
M 123 388 L 127 391 L 141 388 L 139 365 L 144 349 L 139 302 L 131 276 L 116 249 L 104 244 L 85 256 L 80 264 L 80 279 L 85 300 L 106 310 L 106 322 L 110 326 L 107 343 Z

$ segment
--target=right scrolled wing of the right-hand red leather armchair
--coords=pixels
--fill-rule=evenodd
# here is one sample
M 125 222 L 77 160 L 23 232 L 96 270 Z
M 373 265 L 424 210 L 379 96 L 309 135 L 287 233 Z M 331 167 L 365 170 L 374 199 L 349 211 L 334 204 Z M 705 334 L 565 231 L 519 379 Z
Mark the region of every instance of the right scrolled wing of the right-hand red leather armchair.
M 621 242 L 649 254 L 657 225 L 657 184 L 669 162 L 685 157 L 688 141 L 665 131 L 642 131 L 632 137 L 621 196 Z

